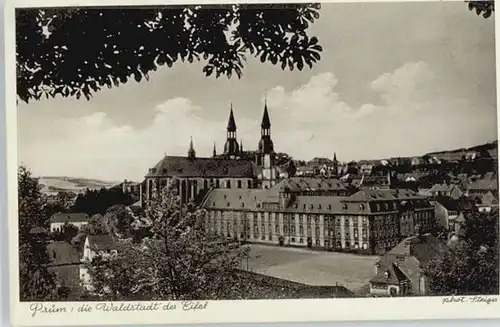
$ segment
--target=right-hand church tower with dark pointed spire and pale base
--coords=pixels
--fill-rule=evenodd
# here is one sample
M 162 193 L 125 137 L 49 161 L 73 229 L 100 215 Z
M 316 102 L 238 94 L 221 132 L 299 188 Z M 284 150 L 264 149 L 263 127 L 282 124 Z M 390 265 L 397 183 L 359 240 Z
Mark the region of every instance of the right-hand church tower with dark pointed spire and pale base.
M 257 165 L 262 169 L 262 187 L 270 188 L 276 184 L 276 168 L 274 144 L 271 140 L 271 120 L 267 111 L 267 100 L 264 105 L 264 114 L 260 124 L 260 142 L 257 151 Z

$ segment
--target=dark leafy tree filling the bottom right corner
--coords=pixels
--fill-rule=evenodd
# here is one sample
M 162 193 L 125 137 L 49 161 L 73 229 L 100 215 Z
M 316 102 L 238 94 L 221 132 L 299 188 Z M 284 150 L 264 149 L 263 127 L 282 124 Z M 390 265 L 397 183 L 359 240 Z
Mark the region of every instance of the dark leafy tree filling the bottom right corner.
M 467 218 L 463 240 L 425 268 L 434 294 L 498 294 L 498 214 Z

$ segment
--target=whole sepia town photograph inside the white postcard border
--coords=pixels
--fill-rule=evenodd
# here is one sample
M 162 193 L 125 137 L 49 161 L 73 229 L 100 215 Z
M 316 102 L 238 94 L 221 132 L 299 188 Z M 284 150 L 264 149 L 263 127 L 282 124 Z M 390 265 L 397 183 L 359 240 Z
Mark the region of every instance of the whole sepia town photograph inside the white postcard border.
M 493 1 L 14 15 L 11 301 L 33 315 L 496 302 Z

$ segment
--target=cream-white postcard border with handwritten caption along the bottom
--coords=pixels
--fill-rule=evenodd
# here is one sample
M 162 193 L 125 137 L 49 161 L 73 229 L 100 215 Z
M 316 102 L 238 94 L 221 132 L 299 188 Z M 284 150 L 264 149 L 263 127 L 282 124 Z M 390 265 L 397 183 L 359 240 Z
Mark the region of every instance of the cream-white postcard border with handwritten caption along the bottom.
M 411 0 L 399 0 L 408 1 Z M 434 1 L 434 0 L 423 0 Z M 456 0 L 453 0 L 456 1 Z M 463 2 L 461 0 L 458 0 Z M 224 0 L 141 0 L 141 5 L 165 4 L 218 4 L 243 1 Z M 256 1 L 246 3 L 288 3 L 289 0 Z M 297 0 L 293 2 L 310 2 Z M 391 2 L 390 0 L 327 0 L 325 2 Z M 185 311 L 180 302 L 159 302 L 160 306 L 175 303 L 175 310 L 148 311 L 113 311 L 96 310 L 98 302 L 45 302 L 47 307 L 66 308 L 66 312 L 33 316 L 32 302 L 19 301 L 19 259 L 18 259 L 18 219 L 17 219 L 17 112 L 15 84 L 15 18 L 14 7 L 49 7 L 49 6 L 118 6 L 138 5 L 134 0 L 74 1 L 74 0 L 7 0 L 5 4 L 5 62 L 6 62 L 6 158 L 7 158 L 7 213 L 8 213 L 8 251 L 9 251 L 9 286 L 10 312 L 14 326 L 56 326 L 56 325 L 107 325 L 107 324 L 179 324 L 179 323 L 256 323 L 256 322 L 324 322 L 324 321 L 367 321 L 367 320 L 422 320 L 422 319 L 481 319 L 500 318 L 500 296 L 487 297 L 490 304 L 471 302 L 472 297 L 407 297 L 407 298 L 351 298 L 321 300 L 251 300 L 251 301 L 209 301 L 206 309 Z M 466 4 L 464 3 L 464 6 Z M 467 10 L 467 8 L 464 8 Z M 471 13 L 473 14 L 473 13 Z M 494 18 L 492 18 L 494 19 Z M 495 24 L 496 48 L 498 49 L 500 28 Z M 496 52 L 496 61 L 500 59 Z M 497 69 L 497 80 L 499 72 Z M 497 108 L 499 107 L 499 85 L 497 83 Z M 498 126 L 500 126 L 497 114 Z M 486 297 L 485 297 L 486 298 Z M 443 303 L 445 299 L 456 300 Z M 106 302 L 103 302 L 106 303 Z M 109 303 L 109 302 L 107 302 Z M 120 302 L 113 302 L 119 305 Z M 127 302 L 128 303 L 128 302 Z M 137 302 L 135 302 L 137 303 Z M 143 304 L 152 301 L 141 302 Z M 35 303 L 36 304 L 36 303 Z M 92 312 L 78 312 L 78 308 L 88 305 Z M 73 310 L 72 310 L 73 308 Z

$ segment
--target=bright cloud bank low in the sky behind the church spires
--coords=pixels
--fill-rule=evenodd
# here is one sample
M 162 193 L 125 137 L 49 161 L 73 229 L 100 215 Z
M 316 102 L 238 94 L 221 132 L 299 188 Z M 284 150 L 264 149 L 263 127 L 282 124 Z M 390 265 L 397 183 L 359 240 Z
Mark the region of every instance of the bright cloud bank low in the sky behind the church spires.
M 340 160 L 356 160 L 496 138 L 495 111 L 475 115 L 467 99 L 452 96 L 426 63 L 407 63 L 360 85 L 360 92 L 368 86 L 379 101 L 356 108 L 342 101 L 337 84 L 334 74 L 325 72 L 297 89 L 277 85 L 268 92 L 277 151 L 305 160 L 334 152 Z M 227 113 L 202 118 L 202 104 L 187 98 L 169 99 L 153 110 L 153 121 L 142 129 L 118 125 L 104 112 L 42 124 L 34 141 L 20 145 L 20 161 L 40 175 L 140 180 L 164 153 L 185 155 L 190 137 L 199 156 L 210 156 L 214 141 L 221 151 Z M 260 138 L 261 114 L 255 113 L 258 121 L 236 117 L 238 137 L 254 140 L 245 148 L 254 148 Z

